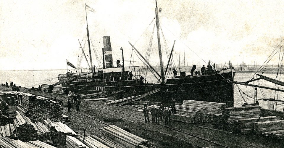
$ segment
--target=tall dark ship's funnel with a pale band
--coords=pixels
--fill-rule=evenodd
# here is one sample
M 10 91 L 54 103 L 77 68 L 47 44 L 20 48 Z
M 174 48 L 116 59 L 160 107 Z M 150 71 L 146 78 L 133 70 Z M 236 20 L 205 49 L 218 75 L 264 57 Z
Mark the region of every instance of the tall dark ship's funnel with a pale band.
M 109 36 L 103 36 L 103 42 L 104 42 L 104 48 L 103 48 L 103 55 L 104 60 L 106 63 L 106 68 L 113 68 L 113 62 L 112 62 L 112 46 L 110 44 L 110 37 Z

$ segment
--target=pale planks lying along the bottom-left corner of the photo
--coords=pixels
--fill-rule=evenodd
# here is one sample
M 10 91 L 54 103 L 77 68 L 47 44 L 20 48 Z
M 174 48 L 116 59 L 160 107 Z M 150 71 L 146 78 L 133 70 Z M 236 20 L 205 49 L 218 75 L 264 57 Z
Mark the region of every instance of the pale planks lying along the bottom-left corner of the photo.
M 23 142 L 21 140 L 14 140 L 7 137 L 1 138 L 1 148 L 56 148 L 41 141 Z

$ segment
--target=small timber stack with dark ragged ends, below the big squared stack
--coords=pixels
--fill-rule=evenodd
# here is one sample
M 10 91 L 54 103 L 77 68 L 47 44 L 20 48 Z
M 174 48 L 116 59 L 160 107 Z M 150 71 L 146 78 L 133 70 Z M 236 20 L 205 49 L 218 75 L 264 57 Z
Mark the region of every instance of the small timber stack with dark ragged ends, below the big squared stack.
M 14 127 L 19 133 L 19 139 L 22 141 L 33 141 L 37 138 L 38 131 L 32 121 L 23 114 L 16 112 L 16 119 L 14 119 Z

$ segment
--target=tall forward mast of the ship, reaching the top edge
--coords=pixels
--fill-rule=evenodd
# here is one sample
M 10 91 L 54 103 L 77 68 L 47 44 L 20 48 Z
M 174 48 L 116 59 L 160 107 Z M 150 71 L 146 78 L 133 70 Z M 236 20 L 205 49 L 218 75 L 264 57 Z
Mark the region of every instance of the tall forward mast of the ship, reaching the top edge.
M 161 72 L 162 84 L 164 84 L 165 83 L 165 77 L 164 77 L 164 66 L 163 66 L 163 58 L 162 58 L 160 32 L 159 32 L 159 15 L 158 15 L 157 0 L 156 0 L 155 12 L 156 12 L 156 27 L 157 27 L 158 48 L 159 48 L 159 57 L 160 57 L 160 72 Z

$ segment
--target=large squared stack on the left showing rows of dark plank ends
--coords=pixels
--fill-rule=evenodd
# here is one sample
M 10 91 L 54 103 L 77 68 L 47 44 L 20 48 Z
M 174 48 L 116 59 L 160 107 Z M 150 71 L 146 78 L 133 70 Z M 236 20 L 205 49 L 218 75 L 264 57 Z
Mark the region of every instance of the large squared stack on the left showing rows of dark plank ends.
M 29 118 L 33 122 L 41 122 L 46 119 L 62 121 L 62 107 L 58 102 L 42 96 L 29 99 Z

